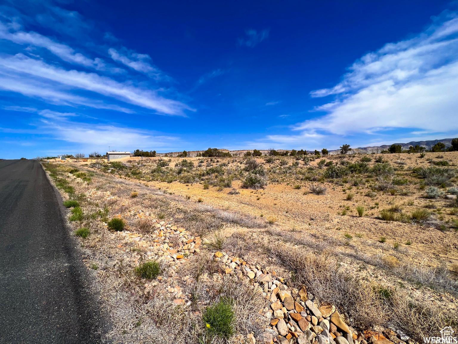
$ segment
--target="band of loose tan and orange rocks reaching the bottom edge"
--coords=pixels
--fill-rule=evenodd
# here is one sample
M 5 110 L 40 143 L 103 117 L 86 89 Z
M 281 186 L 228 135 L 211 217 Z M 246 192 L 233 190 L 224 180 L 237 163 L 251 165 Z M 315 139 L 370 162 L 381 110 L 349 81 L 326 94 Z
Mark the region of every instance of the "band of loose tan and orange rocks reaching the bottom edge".
M 321 305 L 305 287 L 289 288 L 275 271 L 269 272 L 225 252 L 213 254 L 223 263 L 225 273 L 237 276 L 242 283 L 262 293 L 270 306 L 260 311 L 269 322 L 263 333 L 264 344 L 403 344 L 390 329 L 358 332 L 349 327 L 334 305 Z M 254 344 L 254 338 L 245 343 Z

